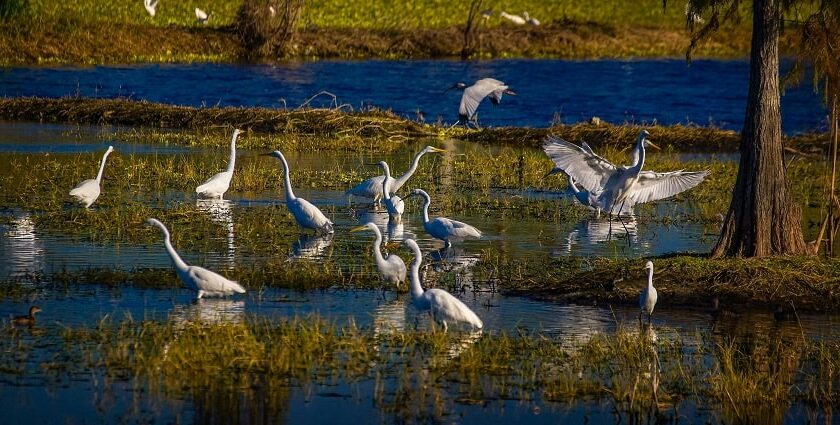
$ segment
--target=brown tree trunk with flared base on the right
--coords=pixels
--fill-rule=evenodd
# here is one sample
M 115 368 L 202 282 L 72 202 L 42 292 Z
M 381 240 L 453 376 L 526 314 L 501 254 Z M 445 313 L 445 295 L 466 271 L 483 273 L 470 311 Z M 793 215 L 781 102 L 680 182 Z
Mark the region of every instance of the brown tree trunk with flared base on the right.
M 806 252 L 801 212 L 791 202 L 779 108 L 780 0 L 753 0 L 750 88 L 741 163 L 713 257 Z

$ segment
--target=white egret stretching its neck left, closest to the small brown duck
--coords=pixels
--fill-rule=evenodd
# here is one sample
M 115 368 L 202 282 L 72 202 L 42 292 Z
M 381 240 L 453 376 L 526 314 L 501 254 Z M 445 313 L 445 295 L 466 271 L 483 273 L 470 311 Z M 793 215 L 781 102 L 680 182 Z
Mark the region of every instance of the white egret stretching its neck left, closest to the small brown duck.
M 159 228 L 163 233 L 163 245 L 166 246 L 166 252 L 169 253 L 169 258 L 172 259 L 172 264 L 175 266 L 178 277 L 181 279 L 181 282 L 184 282 L 187 288 L 197 293 L 197 299 L 201 299 L 205 295 L 209 297 L 223 297 L 234 293 L 245 293 L 245 288 L 242 285 L 204 267 L 190 266 L 185 263 L 178 253 L 175 252 L 175 248 L 172 247 L 172 242 L 169 240 L 169 230 L 166 229 L 166 226 L 154 218 L 146 220 L 146 223 Z

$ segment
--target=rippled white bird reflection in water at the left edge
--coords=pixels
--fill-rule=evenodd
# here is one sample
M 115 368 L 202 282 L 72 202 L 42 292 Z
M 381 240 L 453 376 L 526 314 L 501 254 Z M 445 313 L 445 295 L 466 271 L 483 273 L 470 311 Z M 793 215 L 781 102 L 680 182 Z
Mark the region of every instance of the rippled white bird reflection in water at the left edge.
M 0 274 L 19 277 L 43 271 L 44 243 L 35 234 L 35 224 L 29 214 L 12 219 L 5 233 L 0 243 L 5 259 Z

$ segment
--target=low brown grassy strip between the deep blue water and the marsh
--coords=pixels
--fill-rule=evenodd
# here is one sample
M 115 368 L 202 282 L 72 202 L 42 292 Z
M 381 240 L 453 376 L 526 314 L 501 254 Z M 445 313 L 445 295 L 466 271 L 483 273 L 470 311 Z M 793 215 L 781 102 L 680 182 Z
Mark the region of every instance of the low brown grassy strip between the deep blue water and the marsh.
M 465 130 L 419 123 L 389 111 L 344 109 L 273 109 L 235 107 L 185 107 L 123 99 L 88 98 L 0 98 L 0 119 L 66 124 L 150 127 L 192 130 L 191 134 L 161 135 L 138 130 L 137 142 L 175 142 L 185 146 L 217 145 L 213 131 L 220 127 L 251 130 L 247 147 L 315 150 L 367 150 L 387 139 L 403 142 L 412 137 L 439 137 L 484 145 L 541 148 L 549 134 L 572 142 L 586 141 L 593 148 L 624 149 L 635 140 L 636 125 L 557 125 L 548 129 L 487 128 Z M 657 145 L 678 152 L 720 152 L 738 150 L 738 134 L 730 130 L 683 125 L 644 127 Z M 261 134 L 262 133 L 262 134 Z M 271 133 L 267 135 L 265 133 Z M 786 146 L 806 154 L 823 153 L 827 134 L 786 137 Z M 386 146 L 386 145 L 378 145 Z M 387 148 L 387 146 L 386 146 Z

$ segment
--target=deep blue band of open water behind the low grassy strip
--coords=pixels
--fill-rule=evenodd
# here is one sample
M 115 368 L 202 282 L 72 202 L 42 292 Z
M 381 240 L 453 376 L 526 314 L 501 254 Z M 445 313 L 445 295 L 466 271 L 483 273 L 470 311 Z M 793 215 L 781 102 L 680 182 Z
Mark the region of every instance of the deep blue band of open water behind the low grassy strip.
M 790 62 L 783 64 L 789 68 Z M 784 71 L 784 70 L 783 70 Z M 194 64 L 7 68 L 2 96 L 126 97 L 192 106 L 297 107 L 328 91 L 338 105 L 390 108 L 411 118 L 452 123 L 454 82 L 500 79 L 518 96 L 479 108 L 483 125 L 546 127 L 598 116 L 613 123 L 697 124 L 740 130 L 749 76 L 746 61 L 492 60 L 319 61 L 271 65 Z M 334 101 L 319 96 L 310 105 Z M 810 84 L 782 97 L 782 130 L 825 128 L 825 109 Z

